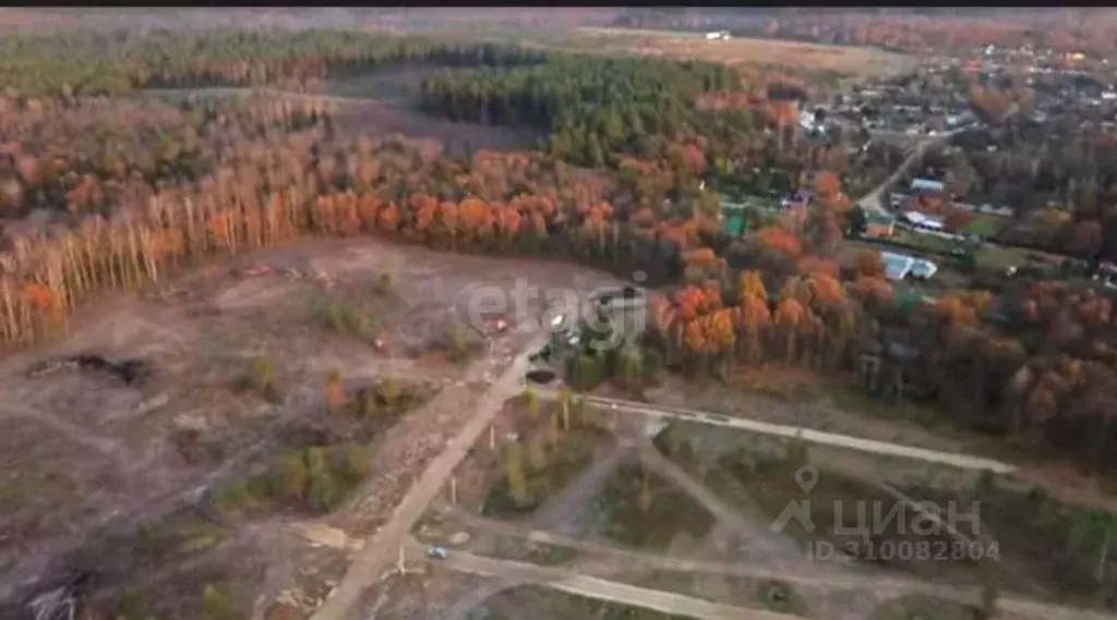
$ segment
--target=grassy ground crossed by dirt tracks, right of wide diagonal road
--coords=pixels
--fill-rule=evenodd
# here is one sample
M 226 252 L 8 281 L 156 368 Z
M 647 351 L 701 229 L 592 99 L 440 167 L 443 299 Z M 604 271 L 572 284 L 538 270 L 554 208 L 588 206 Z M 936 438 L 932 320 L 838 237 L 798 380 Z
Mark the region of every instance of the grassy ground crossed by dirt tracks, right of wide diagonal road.
M 579 410 L 580 416 L 584 416 L 582 419 L 598 417 L 602 428 L 611 427 L 617 430 L 618 439 L 623 444 L 620 437 L 626 435 L 622 420 L 628 419 L 627 415 L 618 415 L 608 409 L 582 410 L 579 407 Z M 546 428 L 548 416 L 553 413 L 544 408 L 531 417 Z M 630 428 L 629 432 L 631 430 Z M 525 440 L 527 446 L 532 444 L 529 434 L 503 435 L 500 443 Z M 475 614 L 488 617 L 484 616 L 485 612 L 499 617 L 500 610 L 495 608 L 500 607 L 500 601 L 506 595 L 486 597 L 502 590 L 506 593 L 515 592 L 507 589 L 537 579 L 525 578 L 523 568 L 517 572 L 514 566 L 523 564 L 517 564 L 516 561 L 552 566 L 553 571 L 562 571 L 563 574 L 596 574 L 618 583 L 676 592 L 717 601 L 719 604 L 790 612 L 808 618 L 968 619 L 975 617 L 972 607 L 951 602 L 942 597 L 962 597 L 960 600 L 966 600 L 962 592 L 982 583 L 986 579 L 983 574 L 999 582 L 1004 595 L 1041 595 L 1044 599 L 1067 600 L 1073 604 L 1096 602 L 1089 595 L 1079 598 L 1081 593 L 1066 583 L 1067 580 L 1085 581 L 1087 578 L 1073 575 L 1072 566 L 1063 563 L 1065 559 L 1053 551 L 1061 544 L 1054 531 L 1029 531 L 1027 536 L 1031 537 L 1031 548 L 1027 550 L 1024 542 L 1006 535 L 1012 530 L 1020 529 L 1019 523 L 1010 523 L 1012 515 L 1027 521 L 1031 517 L 1023 515 L 1034 513 L 1033 508 L 1025 505 L 1031 501 L 1027 498 L 1027 494 L 1000 487 L 1000 483 L 991 487 L 994 490 L 992 492 L 980 492 L 981 501 L 991 503 L 987 512 L 985 508 L 981 512 L 984 517 L 981 537 L 972 537 L 975 536 L 974 532 L 963 531 L 961 527 L 958 534 L 945 531 L 929 536 L 925 532 L 916 534 L 909 516 L 901 516 L 889 529 L 873 532 L 871 542 L 877 546 L 872 549 L 880 549 L 881 545 L 886 549 L 891 549 L 888 545 L 916 549 L 923 544 L 932 550 L 933 555 L 881 556 L 879 551 L 871 551 L 867 546 L 870 543 L 859 536 L 843 539 L 849 532 L 839 531 L 839 527 L 856 525 L 844 522 L 841 515 L 849 516 L 849 511 L 839 510 L 838 506 L 842 503 L 847 506 L 880 505 L 887 511 L 887 506 L 900 501 L 892 495 L 889 486 L 879 484 L 879 477 L 871 471 L 856 471 L 856 458 L 844 458 L 814 448 L 799 452 L 794 443 L 768 442 L 747 434 L 727 434 L 689 423 L 669 425 L 655 444 L 660 456 L 651 458 L 641 448 L 642 466 L 637 466 L 627 458 L 599 457 L 594 465 L 582 468 L 573 477 L 562 476 L 565 482 L 552 478 L 556 484 L 548 488 L 548 498 L 535 503 L 533 512 L 513 520 L 486 519 L 472 512 L 475 508 L 468 506 L 476 506 L 479 496 L 490 494 L 493 487 L 470 484 L 468 481 L 472 478 L 479 482 L 478 477 L 499 481 L 506 478 L 509 471 L 519 469 L 521 466 L 528 472 L 533 458 L 527 457 L 522 465 L 513 468 L 508 467 L 507 459 L 503 464 L 495 459 L 485 459 L 487 464 L 478 459 L 462 463 L 462 468 L 457 473 L 461 481 L 457 486 L 458 507 L 450 508 L 446 501 L 432 506 L 427 524 L 419 529 L 420 537 L 428 544 L 447 544 L 450 548 L 450 562 L 456 562 L 454 558 L 458 556 L 464 558 L 462 562 L 472 562 L 466 558 L 469 554 L 484 554 L 513 562 L 508 562 L 507 573 L 494 568 L 491 570 L 496 572 L 485 574 L 499 577 L 471 592 L 459 590 L 458 594 L 449 593 L 452 590 L 450 583 L 457 581 L 457 578 L 440 569 L 438 562 L 428 562 L 422 581 L 427 588 L 447 592 L 442 603 L 435 600 L 430 603 L 436 608 L 441 604 L 443 609 L 452 610 L 446 618 L 465 619 Z M 747 449 L 743 451 L 742 446 L 747 446 Z M 485 452 L 491 451 L 484 445 L 475 448 L 477 455 Z M 529 447 L 527 453 L 531 454 Z M 796 531 L 793 523 L 792 527 L 773 533 L 770 525 L 777 513 L 790 503 L 804 497 L 804 491 L 795 482 L 794 472 L 808 458 L 821 469 L 821 476 L 817 478 L 819 486 L 809 492 L 813 503 L 808 508 L 810 519 L 820 529 L 813 533 Z M 612 461 L 612 477 L 609 468 L 595 472 L 598 463 L 609 461 Z M 486 465 L 490 468 L 488 473 L 476 471 L 476 467 Z M 877 463 L 876 468 L 880 465 Z M 496 476 L 493 476 L 493 468 L 496 469 Z M 575 491 L 583 487 L 590 478 L 603 478 L 596 492 Z M 527 487 L 538 488 L 538 485 L 528 483 Z M 968 505 L 965 504 L 965 497 L 973 497 L 968 494 L 954 496 L 942 491 L 933 492 L 926 487 L 905 487 L 904 491 L 911 497 L 935 501 L 936 505 L 945 505 L 947 501 L 960 501 Z M 445 500 L 452 498 L 447 496 Z M 657 507 L 661 501 L 667 505 Z M 555 533 L 546 523 L 548 516 L 553 516 L 554 511 L 550 506 L 554 504 L 567 504 L 562 517 L 564 522 L 588 521 L 589 529 L 579 529 L 570 534 Z M 989 527 L 987 532 L 984 531 L 985 527 Z M 638 535 L 632 537 L 632 534 Z M 976 558 L 952 556 L 948 550 L 958 535 L 966 536 L 966 540 L 984 540 L 986 542 L 982 544 L 985 545 L 989 540 L 1000 541 L 997 549 L 1003 560 L 981 563 Z M 1005 537 L 1001 540 L 1001 536 Z M 859 561 L 851 558 L 837 564 L 828 564 L 822 560 L 804 562 L 806 552 L 802 545 L 808 541 L 819 540 L 829 541 L 836 549 L 848 553 L 855 549 L 862 553 L 868 551 L 869 556 L 862 556 Z M 850 543 L 853 541 L 858 541 L 858 544 L 851 548 Z M 937 556 L 943 553 L 946 555 Z M 476 560 L 477 555 L 471 558 Z M 1053 560 L 1054 558 L 1059 559 Z M 1052 570 L 1052 562 L 1056 562 L 1058 570 Z M 782 578 L 765 578 L 765 571 L 770 575 Z M 1062 574 L 1056 574 L 1060 571 Z M 546 580 L 538 582 L 546 583 Z M 851 590 L 846 591 L 847 588 L 856 588 L 853 584 L 858 582 L 875 583 L 879 588 L 865 589 L 862 585 L 862 591 L 857 594 Z M 382 595 L 391 597 L 391 590 L 389 588 Z M 447 608 L 446 604 L 450 607 Z M 564 607 L 565 603 L 544 606 L 542 602 L 533 604 L 523 601 L 517 612 L 531 616 L 545 610 L 552 613 L 551 617 L 564 618 L 564 614 L 557 613 Z M 471 608 L 480 609 L 467 613 Z M 398 611 L 391 607 L 382 608 L 381 617 L 412 617 Z M 607 613 L 605 617 L 611 616 Z M 1020 616 L 1006 612 L 1002 617 Z

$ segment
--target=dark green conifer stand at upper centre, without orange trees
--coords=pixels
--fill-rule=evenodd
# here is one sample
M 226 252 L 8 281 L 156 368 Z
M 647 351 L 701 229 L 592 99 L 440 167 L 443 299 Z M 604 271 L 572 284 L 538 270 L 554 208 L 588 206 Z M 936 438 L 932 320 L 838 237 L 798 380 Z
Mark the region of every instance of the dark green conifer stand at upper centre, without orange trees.
M 557 156 L 600 167 L 612 153 L 649 155 L 650 136 L 693 130 L 699 95 L 741 88 L 733 70 L 710 62 L 557 56 L 443 71 L 424 80 L 421 103 L 455 120 L 545 128 Z

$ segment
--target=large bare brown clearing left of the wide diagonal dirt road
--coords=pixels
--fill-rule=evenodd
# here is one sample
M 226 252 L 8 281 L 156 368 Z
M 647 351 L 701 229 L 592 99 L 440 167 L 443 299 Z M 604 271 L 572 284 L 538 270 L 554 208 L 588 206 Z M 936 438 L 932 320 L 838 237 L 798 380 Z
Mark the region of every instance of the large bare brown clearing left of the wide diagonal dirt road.
M 617 283 L 602 272 L 543 261 L 448 255 L 375 240 L 308 241 L 92 302 L 65 341 L 0 365 L 0 416 L 8 428 L 0 481 L 4 598 L 36 573 L 73 570 L 66 554 L 78 546 L 85 549 L 80 556 L 93 559 L 83 565 L 97 571 L 105 554 L 95 550 L 104 549 L 108 531 L 126 541 L 109 555 L 134 558 L 124 551 L 131 549 L 145 560 L 131 562 L 130 570 L 144 562 L 157 566 L 150 589 L 139 581 L 135 588 L 145 600 L 166 601 L 163 611 L 171 614 L 160 617 L 193 617 L 189 604 L 201 600 L 209 583 L 228 583 L 222 588 L 241 609 L 257 588 L 288 587 L 294 566 L 304 564 L 296 550 L 305 544 L 276 530 L 275 520 L 299 516 L 297 511 L 256 511 L 233 531 L 211 535 L 190 534 L 194 525 L 171 519 L 180 512 L 175 506 L 194 503 L 192 491 L 217 493 L 258 473 L 280 451 L 321 445 L 340 430 L 370 456 L 361 502 L 334 517 L 350 531 L 375 529 L 414 469 L 470 411 L 416 403 L 413 413 L 383 417 L 388 408 L 380 401 L 369 414 L 375 424 L 353 427 L 342 414 L 331 414 L 332 371 L 351 399 L 384 380 L 400 390 L 423 386 L 427 394 L 448 387 L 483 391 L 479 376 L 465 376 L 465 365 L 449 359 L 450 326 L 467 322 L 477 287 L 510 291 L 517 279 L 584 291 Z M 523 335 L 497 337 L 493 352 L 516 338 Z M 467 340 L 480 338 L 469 331 Z M 480 349 L 471 348 L 475 355 Z M 150 378 L 130 384 L 106 368 L 61 364 L 76 356 L 132 360 L 150 369 Z M 38 372 L 29 376 L 29 368 Z M 268 389 L 246 387 L 259 382 L 260 374 L 268 376 Z M 172 550 L 189 553 L 153 560 L 147 548 L 159 545 L 149 540 L 152 534 L 131 532 L 122 521 L 157 530 L 155 539 L 170 536 L 178 541 Z M 227 563 L 220 558 L 238 572 L 218 570 Z M 208 572 L 173 577 L 180 560 Z M 132 581 L 123 568 L 106 572 L 109 585 Z

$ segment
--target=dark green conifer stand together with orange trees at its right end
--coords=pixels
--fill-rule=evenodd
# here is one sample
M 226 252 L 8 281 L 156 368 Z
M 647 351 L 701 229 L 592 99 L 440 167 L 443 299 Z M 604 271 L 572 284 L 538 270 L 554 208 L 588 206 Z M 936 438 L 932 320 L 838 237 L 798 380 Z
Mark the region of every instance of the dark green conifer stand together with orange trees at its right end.
M 785 76 L 748 77 L 709 62 L 567 56 L 446 70 L 423 81 L 421 101 L 456 120 L 545 128 L 551 155 L 631 171 L 632 185 L 634 171 L 666 168 L 691 196 L 699 180 L 731 195 L 787 194 L 822 169 L 867 191 L 903 159 L 885 144 L 851 148 L 848 133 L 808 139 L 798 126 L 806 88 Z

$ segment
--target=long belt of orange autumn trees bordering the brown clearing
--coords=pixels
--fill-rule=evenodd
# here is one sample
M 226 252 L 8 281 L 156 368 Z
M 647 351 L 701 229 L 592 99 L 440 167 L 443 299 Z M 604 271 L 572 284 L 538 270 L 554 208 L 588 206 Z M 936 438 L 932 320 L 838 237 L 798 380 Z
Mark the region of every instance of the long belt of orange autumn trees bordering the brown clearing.
M 825 169 L 824 148 L 804 147 L 818 163 L 785 181 L 810 187 L 815 202 L 734 239 L 720 231 L 716 198 L 694 187 L 718 163 L 705 135 L 668 142 L 661 159 L 623 155 L 615 169 L 589 171 L 542 152 L 450 157 L 433 141 L 341 132 L 326 105 L 262 96 L 180 107 L 15 97 L 0 110 L 9 211 L 58 214 L 49 226 L 4 227 L 6 350 L 57 335 L 102 290 L 305 234 L 373 234 L 639 268 L 652 285 L 684 285 L 655 302 L 657 347 L 672 366 L 852 371 L 873 390 L 936 400 L 960 422 L 992 420 L 1106 464 L 1110 301 L 1070 283 L 1022 282 L 999 297 L 906 302 L 878 255 L 841 259 L 851 201 L 842 175 Z M 760 135 L 746 141 L 757 157 L 792 158 L 796 147 L 781 152 L 762 142 L 776 136 Z M 621 366 L 634 375 L 631 359 Z

